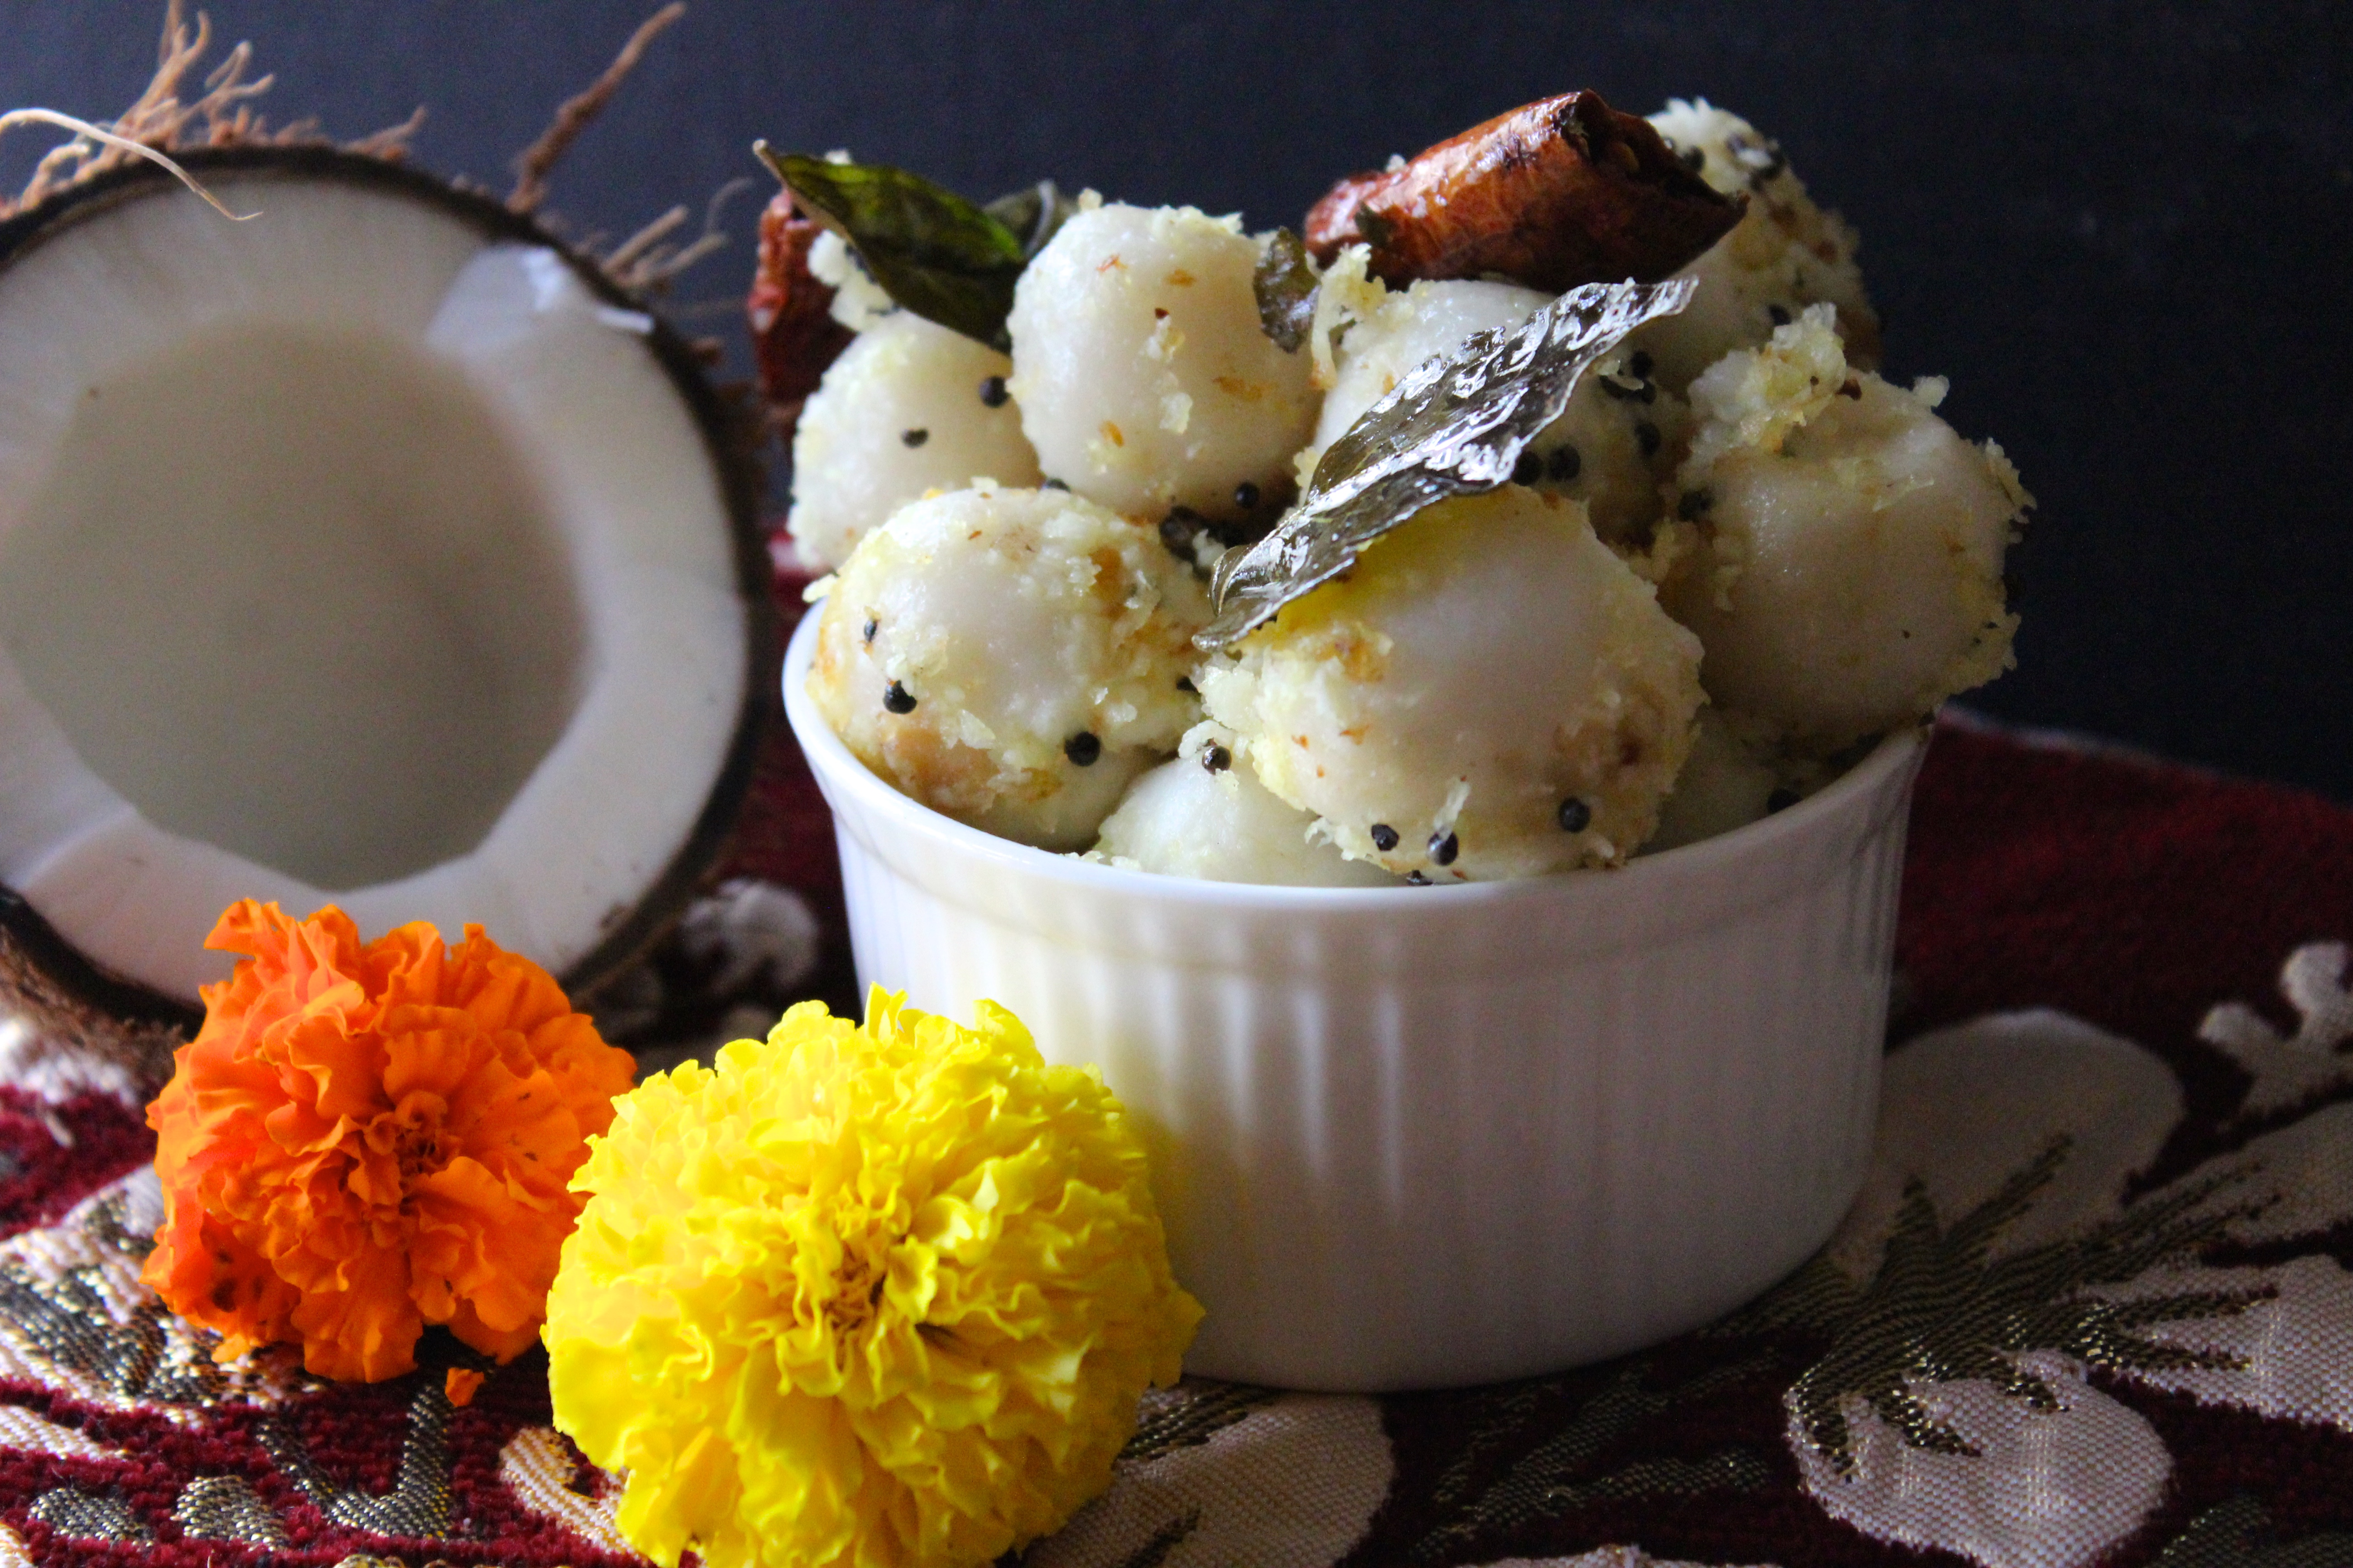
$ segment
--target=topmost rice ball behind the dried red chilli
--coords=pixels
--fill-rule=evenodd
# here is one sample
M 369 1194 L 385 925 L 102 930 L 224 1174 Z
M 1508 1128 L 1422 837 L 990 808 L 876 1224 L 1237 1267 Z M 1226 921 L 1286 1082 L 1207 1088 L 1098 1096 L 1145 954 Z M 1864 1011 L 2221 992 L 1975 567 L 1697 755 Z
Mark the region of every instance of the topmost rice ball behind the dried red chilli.
M 1854 263 L 1861 240 L 1805 193 L 1781 148 L 1706 99 L 1671 99 L 1649 118 L 1668 146 L 1699 160 L 1699 176 L 1725 195 L 1748 195 L 1741 221 L 1678 277 L 1699 282 L 1680 315 L 1633 334 L 1659 362 L 1659 378 L 1682 390 L 1734 348 L 1762 343 L 1812 303 L 1838 310 L 1838 331 L 1857 364 L 1878 364 L 1880 317 Z

